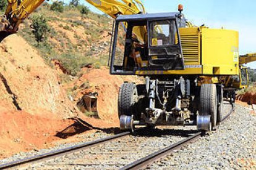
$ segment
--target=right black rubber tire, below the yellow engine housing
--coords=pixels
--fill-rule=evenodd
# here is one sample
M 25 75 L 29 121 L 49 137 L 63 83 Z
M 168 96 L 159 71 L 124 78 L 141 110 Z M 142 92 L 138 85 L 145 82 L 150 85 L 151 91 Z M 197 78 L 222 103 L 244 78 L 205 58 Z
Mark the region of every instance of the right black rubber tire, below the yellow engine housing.
M 211 116 L 211 128 L 217 123 L 217 89 L 215 84 L 202 84 L 200 90 L 200 115 Z

